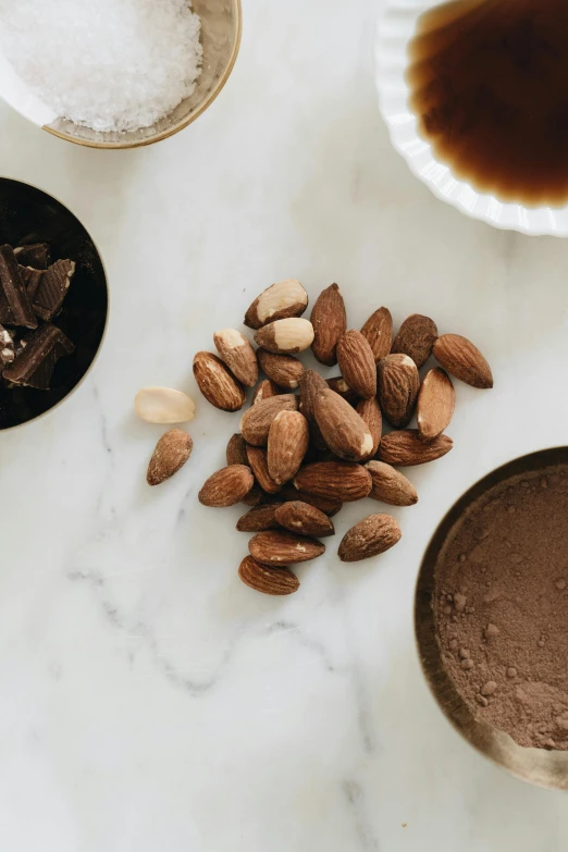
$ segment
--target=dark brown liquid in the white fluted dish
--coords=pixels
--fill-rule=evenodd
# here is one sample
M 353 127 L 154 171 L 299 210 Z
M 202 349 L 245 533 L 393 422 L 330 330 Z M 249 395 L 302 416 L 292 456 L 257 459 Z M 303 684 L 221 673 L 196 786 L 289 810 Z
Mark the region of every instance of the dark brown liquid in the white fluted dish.
M 504 201 L 568 201 L 568 0 L 454 0 L 410 42 L 410 108 L 453 173 Z

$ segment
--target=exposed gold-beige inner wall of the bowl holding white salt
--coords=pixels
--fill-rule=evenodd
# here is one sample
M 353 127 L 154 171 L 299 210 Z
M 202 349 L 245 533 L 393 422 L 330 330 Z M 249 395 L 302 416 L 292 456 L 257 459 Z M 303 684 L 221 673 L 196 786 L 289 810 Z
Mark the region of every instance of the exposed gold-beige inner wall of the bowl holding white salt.
M 193 95 L 150 127 L 129 133 L 98 133 L 58 119 L 45 129 L 69 141 L 95 148 L 133 148 L 149 145 L 181 131 L 197 119 L 223 88 L 240 42 L 240 0 L 192 0 L 201 18 L 203 65 Z

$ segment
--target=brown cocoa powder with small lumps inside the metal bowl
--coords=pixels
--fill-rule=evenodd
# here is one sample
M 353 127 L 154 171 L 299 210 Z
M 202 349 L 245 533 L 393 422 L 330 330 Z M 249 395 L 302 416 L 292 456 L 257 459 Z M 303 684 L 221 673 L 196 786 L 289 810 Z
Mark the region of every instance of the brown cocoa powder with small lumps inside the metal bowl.
M 434 615 L 474 714 L 520 745 L 568 750 L 568 466 L 469 507 L 439 558 Z

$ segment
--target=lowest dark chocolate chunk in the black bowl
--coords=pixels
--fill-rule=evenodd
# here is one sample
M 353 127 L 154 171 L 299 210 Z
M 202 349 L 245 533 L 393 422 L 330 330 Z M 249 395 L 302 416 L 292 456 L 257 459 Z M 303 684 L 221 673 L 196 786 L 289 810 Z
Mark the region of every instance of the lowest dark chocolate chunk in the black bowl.
M 61 329 L 46 323 L 30 334 L 14 361 L 2 375 L 9 382 L 39 391 L 49 391 L 51 375 L 58 360 L 70 355 L 74 345 Z

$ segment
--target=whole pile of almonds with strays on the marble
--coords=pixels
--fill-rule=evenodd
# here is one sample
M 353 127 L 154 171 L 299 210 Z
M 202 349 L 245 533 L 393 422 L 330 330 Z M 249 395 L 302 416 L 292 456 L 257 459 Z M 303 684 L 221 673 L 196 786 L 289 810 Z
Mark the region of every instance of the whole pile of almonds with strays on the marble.
M 413 485 L 396 467 L 433 461 L 452 449 L 452 440 L 443 434 L 455 404 L 447 373 L 473 387 L 493 385 L 491 369 L 476 346 L 456 334 L 439 336 L 429 317 L 408 317 L 393 341 L 386 308 L 376 310 L 361 331 L 347 330 L 336 284 L 320 294 L 310 320 L 301 317 L 307 307 L 308 295 L 298 281 L 274 284 L 245 316 L 245 325 L 255 330 L 257 350 L 239 331 L 223 329 L 213 335 L 218 355 L 199 351 L 194 358 L 197 384 L 215 408 L 239 410 L 245 388 L 255 387 L 240 432 L 229 441 L 227 466 L 207 480 L 199 501 L 205 506 L 242 502 L 250 507 L 237 522 L 238 530 L 255 533 L 238 573 L 268 594 L 298 589 L 288 566 L 324 553 L 319 539 L 334 534 L 331 517 L 343 503 L 371 497 L 410 506 L 418 501 Z M 324 380 L 305 369 L 295 356 L 309 347 L 325 367 L 338 365 L 341 375 Z M 419 368 L 432 354 L 441 367 L 420 381 Z M 267 376 L 260 382 L 259 369 Z M 140 416 L 140 408 L 151 409 L 156 395 L 164 392 L 180 393 L 141 391 Z M 187 419 L 193 417 L 188 397 L 173 402 L 178 408 L 185 405 Z M 415 412 L 417 429 L 408 429 Z M 384 435 L 383 418 L 393 427 Z M 190 450 L 186 432 L 166 432 L 150 461 L 148 482 L 163 482 Z M 391 515 L 369 515 L 344 535 L 339 559 L 376 556 L 400 534 Z

